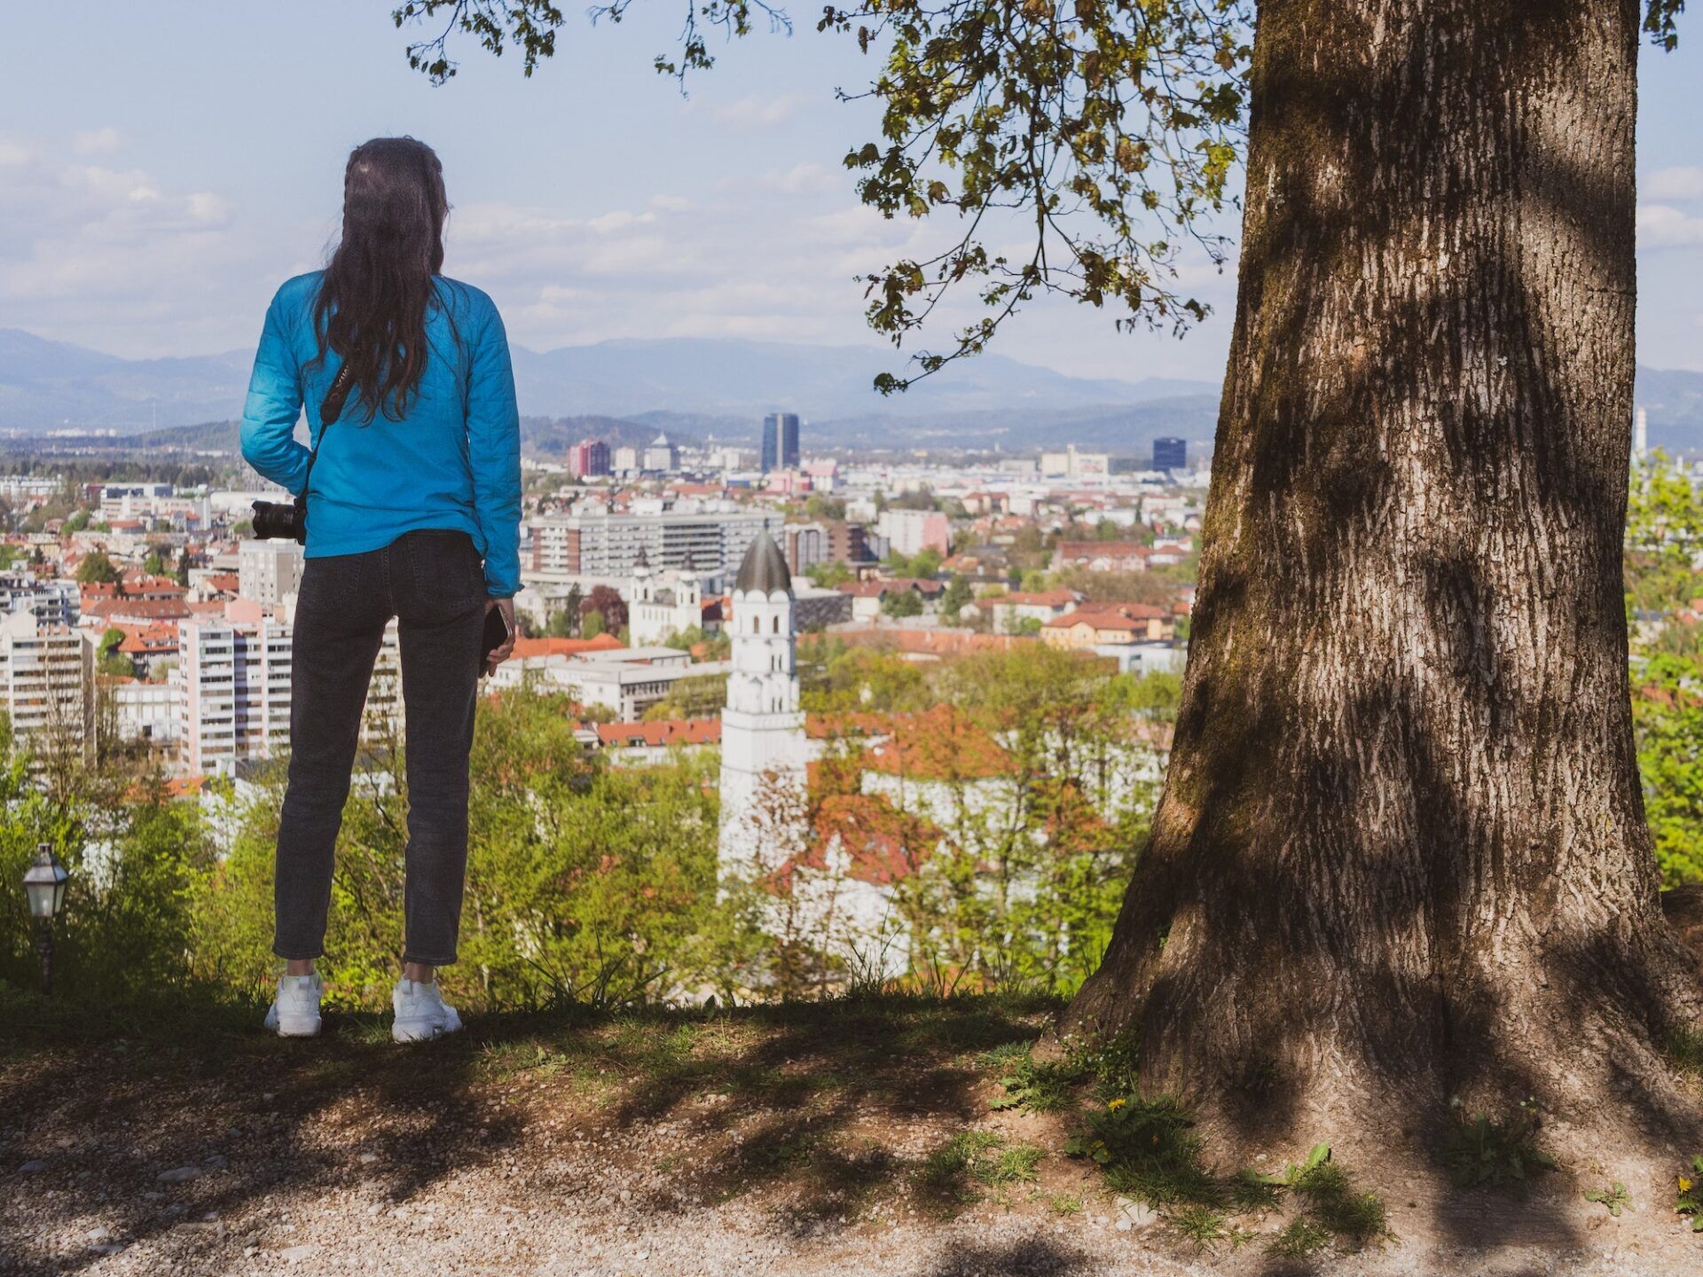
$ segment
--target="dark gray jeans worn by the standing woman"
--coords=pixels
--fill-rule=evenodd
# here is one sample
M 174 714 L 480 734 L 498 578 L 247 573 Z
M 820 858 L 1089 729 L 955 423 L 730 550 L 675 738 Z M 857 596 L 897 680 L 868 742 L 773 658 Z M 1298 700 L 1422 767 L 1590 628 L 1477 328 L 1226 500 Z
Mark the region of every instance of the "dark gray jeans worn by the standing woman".
M 291 657 L 290 792 L 272 889 L 278 957 L 325 952 L 332 853 L 366 686 L 395 616 L 409 782 L 402 960 L 455 962 L 485 598 L 484 565 L 463 531 L 412 531 L 383 550 L 307 560 Z

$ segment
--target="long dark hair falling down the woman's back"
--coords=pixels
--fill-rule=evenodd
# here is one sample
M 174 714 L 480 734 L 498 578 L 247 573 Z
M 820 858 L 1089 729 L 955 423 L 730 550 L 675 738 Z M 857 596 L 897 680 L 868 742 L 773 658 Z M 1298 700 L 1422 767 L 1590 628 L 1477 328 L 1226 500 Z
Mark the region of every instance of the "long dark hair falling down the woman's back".
M 373 138 L 342 172 L 342 242 L 313 303 L 320 358 L 354 368 L 366 417 L 400 421 L 426 373 L 426 315 L 443 269 L 450 201 L 443 165 L 424 141 Z

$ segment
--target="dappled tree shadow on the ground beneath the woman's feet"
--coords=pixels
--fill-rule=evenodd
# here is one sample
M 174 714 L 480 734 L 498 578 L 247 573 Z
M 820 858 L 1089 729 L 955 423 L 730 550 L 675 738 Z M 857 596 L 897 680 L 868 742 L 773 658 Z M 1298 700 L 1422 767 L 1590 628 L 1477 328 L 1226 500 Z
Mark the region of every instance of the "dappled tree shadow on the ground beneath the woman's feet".
M 516 1188 L 550 1199 L 594 1192 L 555 1166 L 574 1141 L 649 1173 L 639 1211 L 760 1194 L 785 1234 L 809 1236 L 906 1183 L 906 1160 L 875 1134 L 976 1122 L 974 1056 L 1032 1040 L 1054 1010 L 972 998 L 571 1008 L 470 1016 L 462 1035 L 397 1047 L 370 1013 L 329 1013 L 322 1037 L 281 1040 L 257 1030 L 257 1006 L 186 999 L 114 1025 L 0 989 L 17 1028 L 0 1047 L 0 1272 L 75 1274 L 102 1246 L 179 1229 L 223 1229 L 233 1248 L 276 1241 L 279 1202 L 298 1194 L 378 1187 L 405 1205 L 477 1168 L 513 1168 Z M 623 1151 L 657 1125 L 690 1139 L 691 1165 L 659 1175 L 649 1154 Z M 20 1173 L 32 1161 L 44 1165 Z M 160 1180 L 182 1168 L 194 1170 Z M 44 1233 L 31 1199 L 77 1238 L 92 1219 L 109 1236 Z

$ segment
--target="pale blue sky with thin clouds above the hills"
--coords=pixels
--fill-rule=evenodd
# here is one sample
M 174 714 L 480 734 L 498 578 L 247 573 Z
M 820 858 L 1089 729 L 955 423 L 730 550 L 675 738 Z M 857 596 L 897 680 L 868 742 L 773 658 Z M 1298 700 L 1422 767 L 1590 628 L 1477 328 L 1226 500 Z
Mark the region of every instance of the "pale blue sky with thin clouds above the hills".
M 654 54 L 681 2 L 620 24 L 567 5 L 559 53 L 462 44 L 433 87 L 392 0 L 80 0 L 7 15 L 0 78 L 0 327 L 128 358 L 252 347 L 276 284 L 324 264 L 342 163 L 409 133 L 443 158 L 444 271 L 485 288 L 533 349 L 739 335 L 870 346 L 858 276 L 950 228 L 863 208 L 846 150 L 877 136 L 852 39 L 795 31 L 722 46 L 683 95 Z M 1703 14 L 1647 49 L 1638 119 L 1638 358 L 1703 371 Z M 1219 230 L 1235 235 L 1226 215 Z M 1013 240 L 1015 243 L 1015 240 Z M 1182 262 L 1216 313 L 1177 341 L 1112 312 L 1032 305 L 995 351 L 1075 376 L 1223 376 L 1233 262 Z M 960 312 L 962 318 L 967 312 Z M 945 344 L 940 330 L 932 344 Z M 896 364 L 897 366 L 897 364 Z

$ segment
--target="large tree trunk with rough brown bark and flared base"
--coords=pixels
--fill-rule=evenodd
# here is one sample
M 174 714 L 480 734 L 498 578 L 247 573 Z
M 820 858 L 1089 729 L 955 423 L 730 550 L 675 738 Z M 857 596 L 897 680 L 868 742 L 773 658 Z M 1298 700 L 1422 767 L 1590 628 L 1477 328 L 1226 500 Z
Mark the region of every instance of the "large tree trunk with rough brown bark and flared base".
M 1231 1136 L 1591 1122 L 1698 1010 L 1626 696 L 1637 43 L 1635 0 L 1260 5 L 1175 753 L 1063 1023 Z

